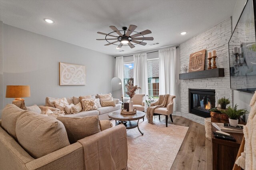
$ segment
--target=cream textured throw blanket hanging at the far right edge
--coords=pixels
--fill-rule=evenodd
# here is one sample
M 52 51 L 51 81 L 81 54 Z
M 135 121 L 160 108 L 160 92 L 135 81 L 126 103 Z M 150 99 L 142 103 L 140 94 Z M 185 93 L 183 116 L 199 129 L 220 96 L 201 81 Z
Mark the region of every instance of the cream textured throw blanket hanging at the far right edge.
M 251 110 L 244 126 L 245 170 L 256 170 L 256 91 L 250 102 Z

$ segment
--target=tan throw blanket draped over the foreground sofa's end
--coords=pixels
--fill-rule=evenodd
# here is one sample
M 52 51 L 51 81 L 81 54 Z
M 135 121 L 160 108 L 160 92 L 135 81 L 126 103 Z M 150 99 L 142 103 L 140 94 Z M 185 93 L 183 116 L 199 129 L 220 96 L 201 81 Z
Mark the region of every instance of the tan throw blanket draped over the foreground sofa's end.
M 112 128 L 78 140 L 84 148 L 84 166 L 86 170 L 127 169 L 126 128 L 124 125 Z

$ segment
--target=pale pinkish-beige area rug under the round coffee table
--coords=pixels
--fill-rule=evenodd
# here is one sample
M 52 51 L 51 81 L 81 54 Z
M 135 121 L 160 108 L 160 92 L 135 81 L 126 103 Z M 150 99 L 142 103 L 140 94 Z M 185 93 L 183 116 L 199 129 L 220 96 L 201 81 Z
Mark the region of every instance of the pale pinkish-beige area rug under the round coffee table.
M 115 121 L 112 120 L 113 125 Z M 127 130 L 129 170 L 170 170 L 188 127 L 139 121 L 139 128 Z

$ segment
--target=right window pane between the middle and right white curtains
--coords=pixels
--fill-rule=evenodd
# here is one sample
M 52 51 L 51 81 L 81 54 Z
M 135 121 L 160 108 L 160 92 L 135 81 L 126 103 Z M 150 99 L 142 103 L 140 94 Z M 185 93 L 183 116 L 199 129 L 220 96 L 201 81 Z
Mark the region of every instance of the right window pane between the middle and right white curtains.
M 148 61 L 148 95 L 159 96 L 159 59 Z

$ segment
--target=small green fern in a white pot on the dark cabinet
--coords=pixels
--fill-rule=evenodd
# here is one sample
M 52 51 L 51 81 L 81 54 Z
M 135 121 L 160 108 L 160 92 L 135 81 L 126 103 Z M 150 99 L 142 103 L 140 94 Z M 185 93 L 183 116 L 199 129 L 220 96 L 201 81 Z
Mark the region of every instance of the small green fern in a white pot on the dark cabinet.
M 239 117 L 248 112 L 246 109 L 237 109 L 237 107 L 237 105 L 235 105 L 234 108 L 228 106 L 228 109 L 221 110 L 222 113 L 226 113 L 228 115 L 228 121 L 230 125 L 234 127 L 237 126 Z

